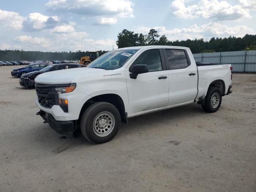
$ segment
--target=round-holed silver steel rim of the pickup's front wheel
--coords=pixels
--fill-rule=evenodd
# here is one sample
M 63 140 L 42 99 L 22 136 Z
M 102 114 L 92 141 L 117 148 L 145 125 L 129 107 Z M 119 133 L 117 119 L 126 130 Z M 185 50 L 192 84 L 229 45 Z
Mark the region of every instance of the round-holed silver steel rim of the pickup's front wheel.
M 114 126 L 114 115 L 107 111 L 98 114 L 93 121 L 93 131 L 99 137 L 108 136 L 113 131 Z

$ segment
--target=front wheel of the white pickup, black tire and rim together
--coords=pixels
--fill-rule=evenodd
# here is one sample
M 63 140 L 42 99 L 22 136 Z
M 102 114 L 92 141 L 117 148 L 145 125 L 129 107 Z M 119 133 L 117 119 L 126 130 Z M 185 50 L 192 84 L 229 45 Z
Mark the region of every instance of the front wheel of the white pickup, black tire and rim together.
M 103 114 L 102 118 L 100 117 L 100 114 Z M 101 119 L 99 120 L 99 118 L 97 117 Z M 112 122 L 111 120 L 110 122 L 105 122 L 104 125 L 107 123 L 105 125 L 106 127 L 102 126 L 102 124 L 99 123 L 109 119 L 113 120 Z M 112 140 L 112 138 L 114 138 L 114 136 L 118 132 L 120 124 L 120 113 L 114 105 L 107 102 L 96 102 L 84 111 L 80 122 L 80 129 L 83 136 L 88 141 L 99 144 Z M 102 126 L 103 128 L 100 128 L 100 126 Z M 104 136 L 104 133 L 108 134 Z

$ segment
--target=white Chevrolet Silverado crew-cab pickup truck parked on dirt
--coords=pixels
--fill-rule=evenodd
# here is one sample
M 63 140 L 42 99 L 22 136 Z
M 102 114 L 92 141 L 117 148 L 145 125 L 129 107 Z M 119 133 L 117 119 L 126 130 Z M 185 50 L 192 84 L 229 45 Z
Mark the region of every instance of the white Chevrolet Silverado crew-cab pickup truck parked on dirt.
M 231 93 L 231 69 L 230 64 L 197 66 L 186 47 L 121 48 L 86 68 L 37 76 L 37 115 L 54 130 L 81 130 L 90 142 L 103 143 L 130 117 L 193 102 L 216 112 L 222 96 Z

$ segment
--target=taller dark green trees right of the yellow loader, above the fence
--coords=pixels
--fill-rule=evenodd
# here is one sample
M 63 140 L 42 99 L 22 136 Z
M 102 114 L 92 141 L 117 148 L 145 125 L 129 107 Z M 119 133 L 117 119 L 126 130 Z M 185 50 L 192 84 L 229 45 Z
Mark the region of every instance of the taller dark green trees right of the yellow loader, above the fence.
M 148 34 L 138 34 L 124 29 L 118 34 L 116 44 L 118 48 L 145 45 L 184 46 L 189 47 L 193 54 L 201 52 L 241 51 L 246 49 L 256 50 L 256 35 L 246 34 L 242 38 L 234 36 L 228 38 L 213 37 L 210 41 L 204 41 L 204 39 L 170 41 L 165 35 L 159 36 L 158 31 L 154 29 L 151 29 Z

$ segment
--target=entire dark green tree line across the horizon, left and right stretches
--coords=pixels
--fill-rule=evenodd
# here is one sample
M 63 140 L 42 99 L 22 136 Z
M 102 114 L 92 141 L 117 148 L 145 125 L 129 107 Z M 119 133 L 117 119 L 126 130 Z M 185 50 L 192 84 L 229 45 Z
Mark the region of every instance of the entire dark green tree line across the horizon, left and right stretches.
M 129 30 L 118 33 L 116 44 L 118 48 L 146 45 L 169 45 L 189 47 L 192 53 L 201 52 L 224 52 L 256 50 L 256 35 L 246 34 L 244 37 L 230 36 L 228 38 L 176 40 L 170 41 L 165 35 L 160 36 L 158 31 L 151 29 L 148 34 L 138 34 Z M 110 45 L 111 46 L 111 45 Z M 99 55 L 106 51 L 99 51 Z M 23 50 L 0 50 L 0 61 L 7 60 L 80 60 L 81 57 L 89 56 L 89 52 L 41 52 Z

